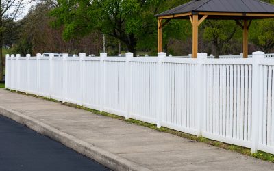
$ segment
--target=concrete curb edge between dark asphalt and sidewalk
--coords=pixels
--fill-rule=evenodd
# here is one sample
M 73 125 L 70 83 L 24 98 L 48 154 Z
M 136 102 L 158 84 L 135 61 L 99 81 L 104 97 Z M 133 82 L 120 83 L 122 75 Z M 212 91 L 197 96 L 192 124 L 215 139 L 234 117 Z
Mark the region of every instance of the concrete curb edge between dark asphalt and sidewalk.
M 148 168 L 139 166 L 137 163 L 124 159 L 114 155 L 108 151 L 105 151 L 97 146 L 93 146 L 87 142 L 77 139 L 76 137 L 63 133 L 62 131 L 55 129 L 48 124 L 40 122 L 34 118 L 21 114 L 18 111 L 7 109 L 6 107 L 0 106 L 0 115 L 10 118 L 20 124 L 24 124 L 30 129 L 51 137 L 53 140 L 61 142 L 65 146 L 72 148 L 78 153 L 94 159 L 95 161 L 103 164 L 111 170 L 144 170 L 149 171 Z

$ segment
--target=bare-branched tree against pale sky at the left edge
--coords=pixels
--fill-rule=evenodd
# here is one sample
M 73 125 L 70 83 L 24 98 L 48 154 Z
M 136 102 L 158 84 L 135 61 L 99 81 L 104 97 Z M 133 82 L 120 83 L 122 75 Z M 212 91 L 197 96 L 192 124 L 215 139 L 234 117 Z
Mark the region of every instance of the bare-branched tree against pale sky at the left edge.
M 10 31 L 10 23 L 21 14 L 21 10 L 27 5 L 26 0 L 0 0 L 0 81 L 3 81 L 3 38 L 4 35 Z

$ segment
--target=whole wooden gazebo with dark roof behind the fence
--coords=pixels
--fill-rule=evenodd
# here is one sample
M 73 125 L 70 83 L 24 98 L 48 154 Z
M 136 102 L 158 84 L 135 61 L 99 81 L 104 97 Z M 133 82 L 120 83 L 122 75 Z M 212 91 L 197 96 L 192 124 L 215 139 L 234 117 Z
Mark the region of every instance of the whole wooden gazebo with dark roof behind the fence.
M 156 15 L 158 52 L 162 52 L 162 29 L 171 19 L 190 19 L 192 57 L 198 53 L 198 27 L 206 19 L 235 20 L 243 30 L 243 57 L 248 55 L 248 30 L 254 19 L 274 18 L 274 5 L 258 0 L 193 0 Z

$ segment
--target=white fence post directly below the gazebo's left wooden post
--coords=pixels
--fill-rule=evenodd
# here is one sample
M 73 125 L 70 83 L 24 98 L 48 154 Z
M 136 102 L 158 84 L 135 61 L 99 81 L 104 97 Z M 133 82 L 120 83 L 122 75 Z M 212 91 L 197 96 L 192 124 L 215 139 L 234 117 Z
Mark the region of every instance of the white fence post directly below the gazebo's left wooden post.
M 162 103 L 163 103 L 163 70 L 162 70 L 162 62 L 164 62 L 164 57 L 166 57 L 166 53 L 160 52 L 158 53 L 158 104 L 157 104 L 157 127 L 162 127 Z

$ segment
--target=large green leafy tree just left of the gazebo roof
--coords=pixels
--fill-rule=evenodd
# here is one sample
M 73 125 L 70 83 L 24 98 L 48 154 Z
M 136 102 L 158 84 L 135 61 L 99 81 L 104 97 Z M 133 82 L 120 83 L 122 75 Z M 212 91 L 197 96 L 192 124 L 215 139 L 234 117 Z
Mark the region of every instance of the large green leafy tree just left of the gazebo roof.
M 147 47 L 151 42 L 156 42 L 157 20 L 154 15 L 184 2 L 186 1 L 58 0 L 58 7 L 51 14 L 56 18 L 56 27 L 64 26 L 63 37 L 66 40 L 99 30 L 121 40 L 128 51 L 136 55 L 137 47 L 142 48 L 144 40 L 149 40 L 149 43 L 145 43 Z M 172 24 L 169 25 L 171 26 Z

